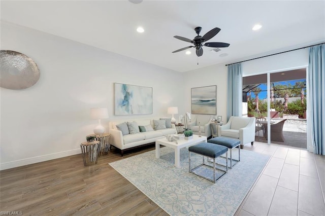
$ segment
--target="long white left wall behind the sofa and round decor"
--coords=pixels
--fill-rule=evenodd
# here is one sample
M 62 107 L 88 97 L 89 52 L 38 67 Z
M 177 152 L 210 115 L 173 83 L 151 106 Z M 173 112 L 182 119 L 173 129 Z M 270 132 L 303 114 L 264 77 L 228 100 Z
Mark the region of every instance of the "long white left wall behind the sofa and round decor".
M 114 116 L 114 82 L 153 88 L 153 114 L 137 117 L 169 116 L 168 106 L 183 109 L 183 74 L 173 70 L 6 22 L 1 49 L 31 57 L 41 73 L 30 88 L 0 88 L 1 169 L 79 154 L 97 123 L 89 119 L 91 107 L 107 107 L 110 119 L 128 119 Z

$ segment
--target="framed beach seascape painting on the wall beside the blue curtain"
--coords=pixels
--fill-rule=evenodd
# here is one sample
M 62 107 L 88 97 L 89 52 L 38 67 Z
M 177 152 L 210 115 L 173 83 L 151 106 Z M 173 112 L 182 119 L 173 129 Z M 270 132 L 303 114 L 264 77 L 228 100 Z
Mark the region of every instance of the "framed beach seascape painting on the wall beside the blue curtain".
M 217 114 L 217 86 L 191 88 L 192 114 Z

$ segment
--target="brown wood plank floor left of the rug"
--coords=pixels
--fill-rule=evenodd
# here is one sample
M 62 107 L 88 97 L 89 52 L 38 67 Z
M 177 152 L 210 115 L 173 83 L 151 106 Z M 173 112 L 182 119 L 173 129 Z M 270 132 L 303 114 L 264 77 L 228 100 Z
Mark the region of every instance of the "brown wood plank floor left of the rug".
M 79 154 L 2 170 L 0 210 L 29 215 L 167 215 L 109 165 L 151 150 L 153 146 L 121 157 L 113 148 L 87 167 Z

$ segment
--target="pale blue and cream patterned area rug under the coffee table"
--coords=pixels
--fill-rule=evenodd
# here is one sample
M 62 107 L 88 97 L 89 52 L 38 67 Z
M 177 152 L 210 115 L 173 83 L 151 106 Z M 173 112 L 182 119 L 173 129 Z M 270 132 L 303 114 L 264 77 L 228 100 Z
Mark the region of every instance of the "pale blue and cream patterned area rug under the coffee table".
M 240 153 L 241 161 L 215 184 L 188 172 L 187 148 L 181 149 L 181 168 L 174 166 L 174 151 L 168 147 L 160 148 L 159 159 L 153 150 L 109 165 L 170 215 L 234 215 L 270 157 Z M 238 149 L 233 156 L 238 159 Z M 191 168 L 201 162 L 202 156 L 191 153 Z M 225 159 L 219 157 L 218 162 Z M 205 166 L 200 169 L 213 174 Z

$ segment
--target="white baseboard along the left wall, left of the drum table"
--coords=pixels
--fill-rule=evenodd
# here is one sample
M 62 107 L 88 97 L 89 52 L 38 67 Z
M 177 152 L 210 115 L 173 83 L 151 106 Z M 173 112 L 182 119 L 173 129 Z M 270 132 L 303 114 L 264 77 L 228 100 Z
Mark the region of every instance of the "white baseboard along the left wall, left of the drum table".
M 39 163 L 43 161 L 48 161 L 48 160 L 53 160 L 57 158 L 63 158 L 71 155 L 77 155 L 81 154 L 80 149 L 74 149 L 74 150 L 69 150 L 69 151 L 64 151 L 64 152 L 58 152 L 58 153 L 53 153 L 53 154 L 48 154 L 48 155 L 42 155 L 42 156 L 37 156 L 37 157 L 32 157 L 32 158 L 26 158 L 22 160 L 17 160 L 17 161 L 11 161 L 11 162 L 6 162 L 0 164 L 0 170 L 5 170 L 5 169 L 11 169 L 19 166 L 25 166 L 33 163 Z

